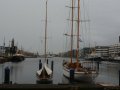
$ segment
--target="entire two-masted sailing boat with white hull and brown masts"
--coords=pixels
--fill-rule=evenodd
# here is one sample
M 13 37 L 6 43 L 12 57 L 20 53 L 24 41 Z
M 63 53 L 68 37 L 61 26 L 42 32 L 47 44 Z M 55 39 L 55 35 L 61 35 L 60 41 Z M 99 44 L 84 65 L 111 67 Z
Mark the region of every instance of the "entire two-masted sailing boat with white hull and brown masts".
M 71 8 L 72 8 L 72 13 L 71 13 L 71 21 L 72 21 L 72 27 L 71 27 L 71 52 L 70 52 L 70 62 L 63 62 L 63 75 L 67 78 L 74 77 L 74 80 L 78 81 L 91 81 L 93 80 L 97 74 L 98 71 L 95 68 L 90 68 L 86 64 L 92 64 L 92 62 L 80 62 L 79 60 L 79 32 L 80 32 L 80 0 L 77 1 L 78 7 L 77 7 L 77 49 L 76 49 L 76 60 L 73 62 L 73 21 L 74 21 L 74 0 L 72 0 Z M 71 73 L 72 72 L 72 73 Z

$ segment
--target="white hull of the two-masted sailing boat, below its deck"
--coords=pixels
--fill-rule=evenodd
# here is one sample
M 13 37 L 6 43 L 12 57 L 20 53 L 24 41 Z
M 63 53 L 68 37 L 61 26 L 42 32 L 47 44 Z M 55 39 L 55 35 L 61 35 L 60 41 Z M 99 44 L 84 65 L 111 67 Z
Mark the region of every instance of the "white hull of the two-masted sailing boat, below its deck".
M 96 71 L 91 72 L 84 72 L 84 71 L 75 71 L 74 72 L 74 80 L 78 81 L 90 81 L 93 80 L 97 76 Z M 70 78 L 70 69 L 67 69 L 66 67 L 63 67 L 63 75 L 67 78 Z

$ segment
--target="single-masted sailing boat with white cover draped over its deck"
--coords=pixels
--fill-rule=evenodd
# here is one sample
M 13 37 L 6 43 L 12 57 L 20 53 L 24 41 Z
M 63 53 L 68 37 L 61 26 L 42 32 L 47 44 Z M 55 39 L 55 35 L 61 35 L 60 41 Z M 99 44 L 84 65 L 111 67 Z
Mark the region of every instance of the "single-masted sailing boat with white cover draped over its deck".
M 52 70 L 48 67 L 47 61 L 47 54 L 46 54 L 46 43 L 47 43 L 47 1 L 46 1 L 46 19 L 45 19 L 45 61 L 43 67 L 37 71 L 37 77 L 39 78 L 40 83 L 47 83 L 52 81 Z M 41 63 L 41 62 L 40 62 Z

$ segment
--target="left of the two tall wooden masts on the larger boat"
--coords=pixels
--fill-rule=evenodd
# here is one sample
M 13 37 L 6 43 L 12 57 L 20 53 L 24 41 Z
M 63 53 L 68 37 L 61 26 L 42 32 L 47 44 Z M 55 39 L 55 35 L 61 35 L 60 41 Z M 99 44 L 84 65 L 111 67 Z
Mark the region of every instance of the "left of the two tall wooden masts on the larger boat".
M 71 56 L 71 63 L 72 63 L 72 56 L 73 56 L 73 18 L 74 18 L 74 0 L 72 0 L 72 16 L 71 16 L 71 20 L 72 20 L 72 25 L 71 25 L 71 52 L 70 52 L 70 56 Z

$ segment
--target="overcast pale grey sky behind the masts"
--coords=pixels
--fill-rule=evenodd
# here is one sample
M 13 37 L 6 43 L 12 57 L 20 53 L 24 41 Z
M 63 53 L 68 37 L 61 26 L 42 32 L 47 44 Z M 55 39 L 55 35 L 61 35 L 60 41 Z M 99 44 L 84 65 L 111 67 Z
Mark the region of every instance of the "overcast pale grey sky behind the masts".
M 0 45 L 12 38 L 19 48 L 44 52 L 46 0 L 0 0 Z M 47 51 L 65 51 L 71 0 L 48 0 Z M 81 46 L 112 45 L 120 35 L 120 0 L 81 0 Z M 82 15 L 83 14 L 83 15 Z

